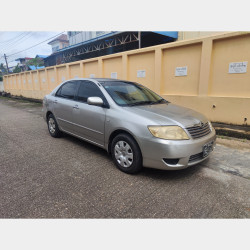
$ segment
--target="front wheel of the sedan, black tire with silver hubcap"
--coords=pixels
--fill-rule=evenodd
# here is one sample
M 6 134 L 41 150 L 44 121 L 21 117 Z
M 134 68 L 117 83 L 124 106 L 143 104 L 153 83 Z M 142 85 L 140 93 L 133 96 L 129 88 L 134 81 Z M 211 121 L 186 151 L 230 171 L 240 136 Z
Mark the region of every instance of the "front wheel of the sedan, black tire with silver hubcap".
M 127 174 L 138 173 L 142 169 L 141 150 L 130 135 L 122 133 L 113 139 L 111 155 L 117 168 Z

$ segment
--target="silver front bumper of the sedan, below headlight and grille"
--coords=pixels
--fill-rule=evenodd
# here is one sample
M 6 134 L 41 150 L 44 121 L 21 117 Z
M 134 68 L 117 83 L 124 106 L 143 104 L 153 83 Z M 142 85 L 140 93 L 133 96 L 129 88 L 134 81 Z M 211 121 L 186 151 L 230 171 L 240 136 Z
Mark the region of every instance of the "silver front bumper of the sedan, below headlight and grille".
M 155 137 L 139 139 L 143 156 L 143 166 L 164 170 L 177 170 L 196 165 L 209 157 L 211 153 L 203 157 L 202 151 L 203 146 L 212 141 L 214 142 L 214 149 L 216 145 L 216 133 L 214 129 L 210 134 L 195 140 L 171 141 Z M 178 162 L 176 164 L 169 164 L 164 159 L 178 159 Z

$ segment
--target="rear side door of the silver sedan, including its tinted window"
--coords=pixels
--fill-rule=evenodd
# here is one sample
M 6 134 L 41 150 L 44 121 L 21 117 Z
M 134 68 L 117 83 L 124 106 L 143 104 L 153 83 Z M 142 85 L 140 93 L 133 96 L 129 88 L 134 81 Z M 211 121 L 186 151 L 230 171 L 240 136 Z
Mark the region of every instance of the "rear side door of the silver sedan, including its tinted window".
M 73 109 L 76 105 L 75 95 L 78 89 L 78 81 L 64 83 L 56 92 L 53 104 L 53 113 L 59 127 L 70 133 L 74 133 Z

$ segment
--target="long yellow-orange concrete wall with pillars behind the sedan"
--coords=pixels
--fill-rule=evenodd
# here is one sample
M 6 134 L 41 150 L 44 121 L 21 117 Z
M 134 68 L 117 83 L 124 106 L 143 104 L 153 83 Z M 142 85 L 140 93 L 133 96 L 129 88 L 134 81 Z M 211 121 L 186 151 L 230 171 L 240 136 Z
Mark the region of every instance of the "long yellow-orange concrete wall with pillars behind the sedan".
M 117 75 L 214 122 L 247 124 L 250 70 L 229 74 L 229 64 L 248 61 L 250 32 L 227 32 L 8 75 L 4 85 L 13 95 L 42 99 L 66 79 Z M 177 67 L 187 67 L 187 75 L 176 76 Z

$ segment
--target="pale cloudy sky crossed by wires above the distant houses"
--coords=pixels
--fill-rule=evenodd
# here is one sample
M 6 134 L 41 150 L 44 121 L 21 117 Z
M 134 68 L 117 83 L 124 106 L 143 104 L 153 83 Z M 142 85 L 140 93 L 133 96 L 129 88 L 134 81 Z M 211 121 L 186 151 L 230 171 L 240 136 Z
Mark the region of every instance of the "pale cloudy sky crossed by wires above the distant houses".
M 54 39 L 52 38 L 53 36 L 61 32 L 63 31 L 0 31 L 0 63 L 4 63 L 5 65 L 5 60 L 2 57 L 3 54 L 7 55 L 10 67 L 17 64 L 14 61 L 16 58 L 35 57 L 37 54 L 50 55 L 52 50 L 48 42 Z M 43 42 L 49 38 L 51 39 Z M 38 43 L 41 44 L 11 56 L 11 54 L 25 50 Z

